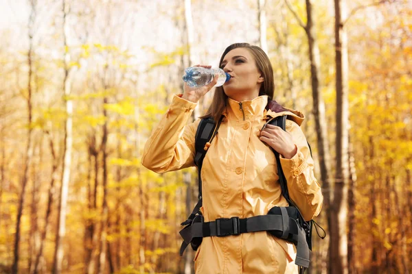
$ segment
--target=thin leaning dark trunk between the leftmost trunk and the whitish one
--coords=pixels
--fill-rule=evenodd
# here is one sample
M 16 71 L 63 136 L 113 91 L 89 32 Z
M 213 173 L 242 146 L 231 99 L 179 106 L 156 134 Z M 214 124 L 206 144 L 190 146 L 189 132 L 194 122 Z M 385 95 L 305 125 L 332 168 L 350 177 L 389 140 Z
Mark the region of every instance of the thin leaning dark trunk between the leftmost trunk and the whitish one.
M 50 214 L 52 214 L 52 205 L 53 205 L 53 198 L 54 198 L 54 192 L 55 192 L 54 182 L 56 182 L 56 179 L 57 179 L 58 157 L 56 156 L 56 152 L 54 150 L 53 138 L 52 136 L 49 136 L 49 138 L 50 138 L 49 140 L 50 152 L 52 153 L 52 176 L 50 178 L 49 191 L 48 191 L 47 208 L 46 208 L 46 214 L 45 214 L 45 227 L 43 229 L 43 232 L 41 233 L 40 248 L 38 249 L 38 253 L 36 254 L 36 260 L 34 261 L 34 269 L 33 269 L 34 274 L 38 273 L 40 260 L 43 256 L 43 249 L 44 249 L 44 244 L 45 244 L 45 240 L 47 236 L 47 230 L 49 227 Z

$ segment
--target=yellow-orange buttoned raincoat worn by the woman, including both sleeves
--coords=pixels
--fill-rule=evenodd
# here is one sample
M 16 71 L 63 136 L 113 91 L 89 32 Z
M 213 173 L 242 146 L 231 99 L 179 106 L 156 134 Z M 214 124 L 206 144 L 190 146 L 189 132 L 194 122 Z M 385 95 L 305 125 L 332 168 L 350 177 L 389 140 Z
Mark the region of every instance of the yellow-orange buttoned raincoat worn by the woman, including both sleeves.
M 201 171 L 205 222 L 218 218 L 265 215 L 273 206 L 288 206 L 277 176 L 275 154 L 260 137 L 270 118 L 288 115 L 286 131 L 293 136 L 297 153 L 282 158 L 290 198 L 307 221 L 322 207 L 321 188 L 313 174 L 313 160 L 299 125 L 304 115 L 295 110 L 266 111 L 267 96 L 240 103 L 228 99 L 225 119 L 211 142 Z M 144 148 L 142 164 L 157 173 L 194 166 L 194 142 L 200 120 L 186 125 L 196 103 L 175 96 L 170 108 L 153 129 Z M 190 247 L 188 247 L 190 248 Z M 196 273 L 297 273 L 295 246 L 268 232 L 238 236 L 205 237 L 197 249 Z

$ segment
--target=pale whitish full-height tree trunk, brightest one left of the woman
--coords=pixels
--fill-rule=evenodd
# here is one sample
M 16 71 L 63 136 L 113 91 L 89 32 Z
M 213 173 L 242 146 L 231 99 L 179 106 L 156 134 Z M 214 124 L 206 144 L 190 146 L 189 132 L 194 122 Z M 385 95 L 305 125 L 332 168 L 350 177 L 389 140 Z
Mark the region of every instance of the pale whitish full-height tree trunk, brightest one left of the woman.
M 67 40 L 66 40 L 66 9 L 65 0 L 62 0 L 62 13 L 63 13 L 63 41 L 65 46 L 65 76 L 63 79 L 63 101 L 66 105 L 67 119 L 65 121 L 65 141 L 63 145 L 63 164 L 62 164 L 62 186 L 60 188 L 60 199 L 58 201 L 58 222 L 56 233 L 56 249 L 54 250 L 53 259 L 53 273 L 61 273 L 62 271 L 62 260 L 63 260 L 63 246 L 62 242 L 65 239 L 65 229 L 66 229 L 66 211 L 67 211 L 67 196 L 69 194 L 69 182 L 70 182 L 70 170 L 71 170 L 71 149 L 73 143 L 73 102 L 70 99 L 71 86 L 69 82 L 69 68 L 68 64 L 70 62 L 69 51 L 67 50 Z

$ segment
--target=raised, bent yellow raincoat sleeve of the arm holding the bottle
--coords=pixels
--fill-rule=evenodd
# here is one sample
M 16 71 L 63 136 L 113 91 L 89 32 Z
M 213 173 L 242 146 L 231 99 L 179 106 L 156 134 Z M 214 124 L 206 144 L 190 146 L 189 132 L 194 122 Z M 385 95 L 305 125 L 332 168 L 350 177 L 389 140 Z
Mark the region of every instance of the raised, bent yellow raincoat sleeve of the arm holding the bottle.
M 141 164 L 156 173 L 194 166 L 194 140 L 200 120 L 186 125 L 197 103 L 175 95 L 168 112 L 152 130 Z

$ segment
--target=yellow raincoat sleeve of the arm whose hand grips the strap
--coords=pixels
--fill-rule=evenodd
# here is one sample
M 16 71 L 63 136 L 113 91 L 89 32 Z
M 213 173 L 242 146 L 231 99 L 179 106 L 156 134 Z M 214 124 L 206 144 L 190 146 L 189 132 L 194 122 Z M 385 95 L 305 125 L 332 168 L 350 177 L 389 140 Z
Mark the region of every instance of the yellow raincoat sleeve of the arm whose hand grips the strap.
M 297 123 L 286 121 L 286 131 L 292 135 L 297 153 L 291 159 L 280 156 L 282 170 L 288 182 L 290 199 L 295 203 L 306 221 L 321 212 L 323 195 L 321 186 L 314 177 L 314 162 L 306 137 Z

